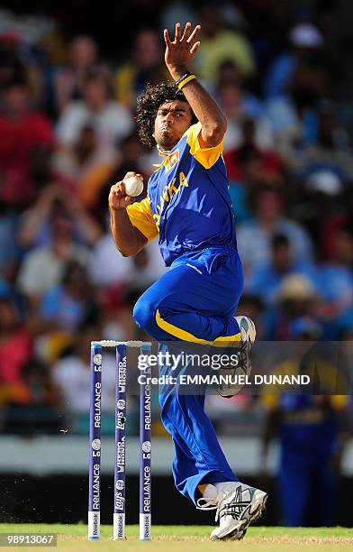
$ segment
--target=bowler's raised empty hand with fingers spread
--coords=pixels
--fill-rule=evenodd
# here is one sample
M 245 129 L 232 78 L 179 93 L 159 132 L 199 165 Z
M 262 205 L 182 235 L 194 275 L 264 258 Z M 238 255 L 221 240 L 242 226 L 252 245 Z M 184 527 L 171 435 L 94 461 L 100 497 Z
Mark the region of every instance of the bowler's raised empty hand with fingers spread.
M 194 31 L 192 31 L 191 23 L 186 23 L 182 34 L 180 23 L 176 23 L 174 41 L 170 40 L 167 29 L 164 30 L 164 40 L 166 41 L 164 59 L 171 77 L 175 80 L 182 77 L 189 70 L 195 53 L 200 47 L 200 41 L 196 41 L 200 30 L 201 25 L 196 25 Z

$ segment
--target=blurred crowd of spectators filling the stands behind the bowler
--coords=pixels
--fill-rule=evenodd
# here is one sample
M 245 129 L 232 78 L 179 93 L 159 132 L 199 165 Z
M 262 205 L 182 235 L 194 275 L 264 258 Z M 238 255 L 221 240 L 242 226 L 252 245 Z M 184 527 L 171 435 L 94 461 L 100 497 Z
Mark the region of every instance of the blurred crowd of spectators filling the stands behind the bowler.
M 86 432 L 88 342 L 143 337 L 132 306 L 166 269 L 157 243 L 134 258 L 116 252 L 107 197 L 127 170 L 146 183 L 158 162 L 139 142 L 134 109 L 147 83 L 168 78 L 161 30 L 176 21 L 202 24 L 195 73 L 228 119 L 224 159 L 245 271 L 240 312 L 255 320 L 258 339 L 353 336 L 347 14 L 335 0 L 132 4 L 130 42 L 117 33 L 113 53 L 102 51 L 104 29 L 69 33 L 60 11 L 0 12 L 6 433 Z M 104 373 L 108 428 L 113 359 Z M 249 415 L 247 401 L 215 401 L 221 431 L 231 408 Z

